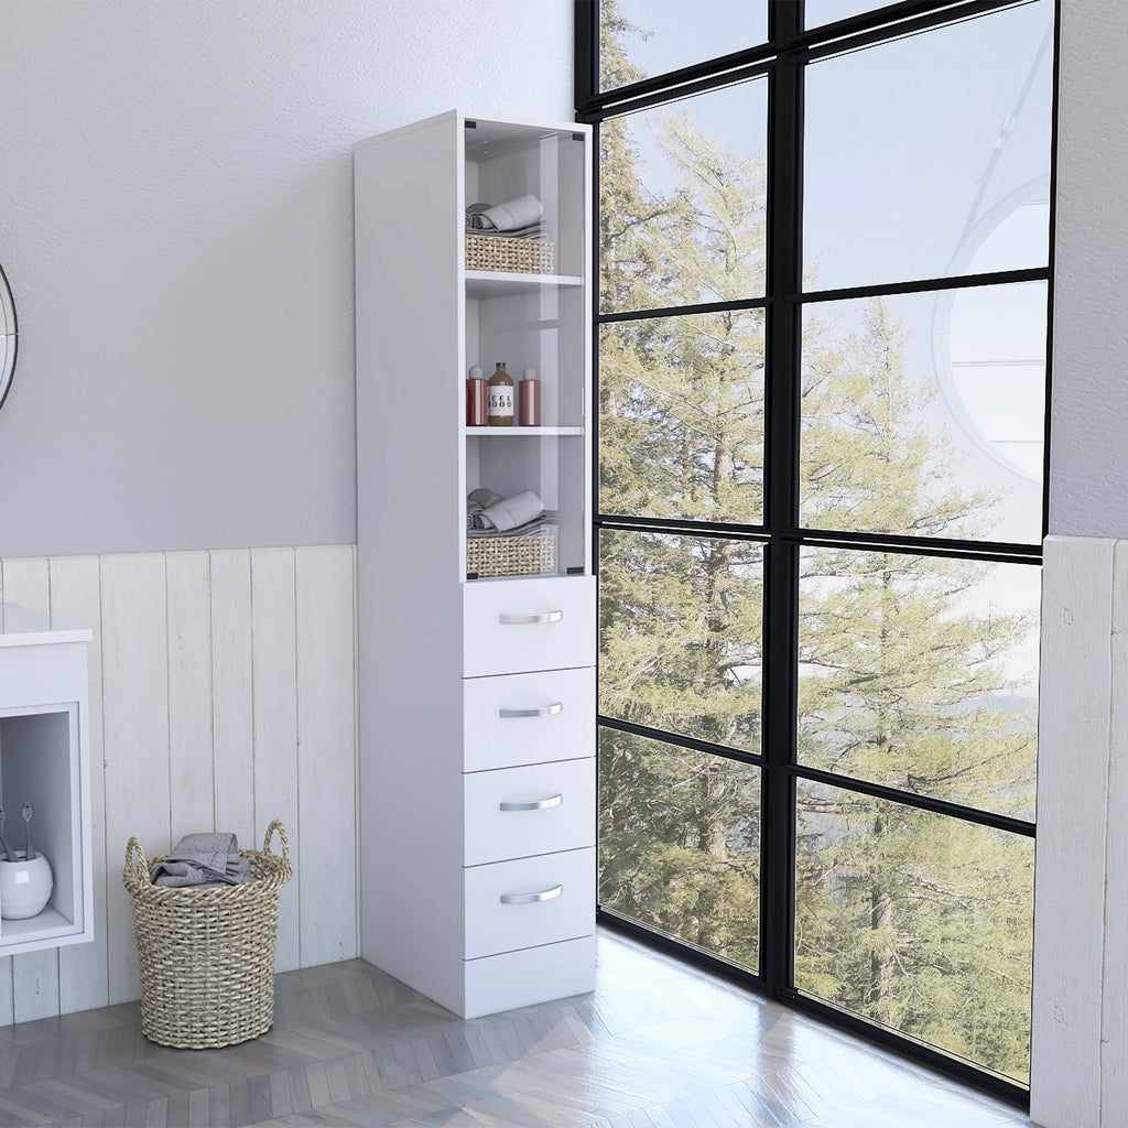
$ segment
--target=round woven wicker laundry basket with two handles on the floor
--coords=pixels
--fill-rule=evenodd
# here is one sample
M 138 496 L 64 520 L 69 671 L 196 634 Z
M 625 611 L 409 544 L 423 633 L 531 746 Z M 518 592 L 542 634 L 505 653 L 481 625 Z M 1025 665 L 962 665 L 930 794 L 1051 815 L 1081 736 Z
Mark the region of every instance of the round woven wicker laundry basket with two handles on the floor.
M 282 856 L 270 851 L 277 831 Z M 133 902 L 141 964 L 141 1030 L 161 1046 L 208 1049 L 257 1038 L 274 1021 L 279 893 L 293 875 L 285 827 L 275 819 L 250 860 L 252 881 L 219 889 L 155 885 L 136 837 L 122 880 Z

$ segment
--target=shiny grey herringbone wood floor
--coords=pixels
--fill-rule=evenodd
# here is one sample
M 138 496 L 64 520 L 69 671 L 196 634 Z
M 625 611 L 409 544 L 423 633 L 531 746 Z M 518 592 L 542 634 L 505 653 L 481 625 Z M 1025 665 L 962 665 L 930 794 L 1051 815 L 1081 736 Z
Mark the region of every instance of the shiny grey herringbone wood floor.
M 593 995 L 462 1022 L 360 960 L 274 1028 L 168 1050 L 136 1004 L 0 1029 L 0 1125 L 999 1128 L 1004 1104 L 620 937 Z

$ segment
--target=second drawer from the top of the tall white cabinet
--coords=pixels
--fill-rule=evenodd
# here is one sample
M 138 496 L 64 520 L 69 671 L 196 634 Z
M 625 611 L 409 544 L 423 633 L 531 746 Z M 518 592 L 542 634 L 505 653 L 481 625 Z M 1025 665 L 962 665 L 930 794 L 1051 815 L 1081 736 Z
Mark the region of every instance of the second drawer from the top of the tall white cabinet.
M 596 671 L 462 681 L 467 772 L 571 760 L 596 751 Z

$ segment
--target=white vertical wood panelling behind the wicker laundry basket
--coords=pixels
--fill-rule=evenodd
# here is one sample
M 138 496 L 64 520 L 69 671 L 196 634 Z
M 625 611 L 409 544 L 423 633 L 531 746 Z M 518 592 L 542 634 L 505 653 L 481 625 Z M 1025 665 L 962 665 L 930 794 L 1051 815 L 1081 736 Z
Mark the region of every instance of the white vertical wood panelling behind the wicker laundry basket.
M 96 928 L 0 959 L 0 1025 L 138 997 L 131 834 L 150 855 L 192 830 L 259 848 L 281 818 L 279 970 L 356 954 L 354 569 L 352 545 L 0 559 L 0 598 L 94 629 Z

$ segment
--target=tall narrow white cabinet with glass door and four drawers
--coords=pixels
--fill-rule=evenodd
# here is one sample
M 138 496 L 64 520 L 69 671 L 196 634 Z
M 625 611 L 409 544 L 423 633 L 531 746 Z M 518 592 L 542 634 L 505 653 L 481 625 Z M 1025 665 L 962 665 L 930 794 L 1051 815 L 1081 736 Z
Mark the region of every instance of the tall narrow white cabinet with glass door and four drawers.
M 364 958 L 464 1017 L 594 980 L 591 134 L 451 112 L 355 150 Z M 554 274 L 468 271 L 465 209 L 544 204 Z M 541 425 L 466 425 L 466 377 Z M 556 571 L 476 579 L 466 497 L 537 493 Z

